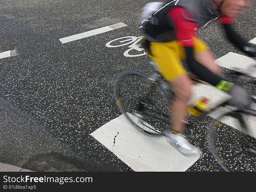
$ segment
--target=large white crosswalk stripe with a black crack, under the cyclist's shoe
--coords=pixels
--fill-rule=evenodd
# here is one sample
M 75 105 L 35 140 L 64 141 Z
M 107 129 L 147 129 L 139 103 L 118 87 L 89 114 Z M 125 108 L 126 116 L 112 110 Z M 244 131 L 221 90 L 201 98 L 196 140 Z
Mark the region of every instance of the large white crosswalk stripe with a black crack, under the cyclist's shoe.
M 164 136 L 142 134 L 127 122 L 124 115 L 91 135 L 135 171 L 185 171 L 199 159 L 199 156 L 184 156 Z

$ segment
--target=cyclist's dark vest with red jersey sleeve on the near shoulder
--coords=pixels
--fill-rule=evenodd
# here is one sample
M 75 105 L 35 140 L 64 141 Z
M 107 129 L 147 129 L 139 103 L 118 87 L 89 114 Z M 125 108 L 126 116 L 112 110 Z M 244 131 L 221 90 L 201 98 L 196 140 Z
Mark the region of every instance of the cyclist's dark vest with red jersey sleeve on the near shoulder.
M 142 29 L 146 39 L 152 42 L 170 42 L 178 38 L 191 45 L 192 32 L 217 17 L 220 13 L 211 0 L 173 0 L 144 20 Z M 219 20 L 227 22 L 231 18 L 220 17 Z

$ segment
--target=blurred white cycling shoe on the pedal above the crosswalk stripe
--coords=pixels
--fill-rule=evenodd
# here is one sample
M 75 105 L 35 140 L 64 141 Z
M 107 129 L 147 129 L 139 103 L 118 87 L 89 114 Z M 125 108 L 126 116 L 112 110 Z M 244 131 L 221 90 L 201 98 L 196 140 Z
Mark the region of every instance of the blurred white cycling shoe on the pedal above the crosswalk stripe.
M 202 155 L 202 151 L 191 145 L 184 135 L 171 131 L 166 131 L 165 134 L 168 137 L 168 141 L 182 154 L 186 156 Z

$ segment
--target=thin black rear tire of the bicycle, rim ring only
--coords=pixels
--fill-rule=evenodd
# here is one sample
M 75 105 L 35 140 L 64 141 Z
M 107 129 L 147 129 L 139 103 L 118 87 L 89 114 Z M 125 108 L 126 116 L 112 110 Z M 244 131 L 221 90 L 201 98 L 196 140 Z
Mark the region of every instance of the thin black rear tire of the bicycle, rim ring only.
M 118 76 L 118 78 L 115 80 L 115 84 L 114 84 L 114 95 L 115 95 L 115 101 L 118 105 L 119 110 L 121 111 L 122 114 L 125 115 L 125 117 L 127 118 L 127 120 L 129 120 L 129 122 L 140 132 L 142 132 L 143 134 L 147 134 L 150 136 L 157 136 L 157 135 L 161 135 L 161 133 L 159 134 L 159 132 L 148 132 L 146 130 L 143 130 L 141 127 L 138 127 L 137 125 L 135 125 L 135 123 L 129 118 L 129 116 L 126 114 L 126 111 L 123 109 L 122 104 L 120 103 L 120 95 L 119 95 L 119 83 L 120 83 L 120 79 L 122 79 L 123 77 L 127 76 L 127 75 L 137 75 L 137 76 L 141 76 L 144 79 L 147 79 L 148 81 L 151 81 L 151 83 L 163 94 L 163 97 L 166 99 L 166 102 L 168 104 L 168 107 L 170 108 L 170 98 L 168 97 L 168 93 L 166 93 L 166 90 L 159 85 L 158 83 L 156 83 L 154 80 L 150 79 L 150 75 L 141 72 L 141 71 L 137 71 L 137 70 L 128 70 L 126 72 L 123 72 L 122 74 L 120 74 Z

